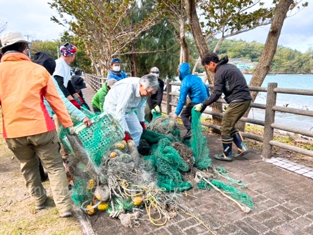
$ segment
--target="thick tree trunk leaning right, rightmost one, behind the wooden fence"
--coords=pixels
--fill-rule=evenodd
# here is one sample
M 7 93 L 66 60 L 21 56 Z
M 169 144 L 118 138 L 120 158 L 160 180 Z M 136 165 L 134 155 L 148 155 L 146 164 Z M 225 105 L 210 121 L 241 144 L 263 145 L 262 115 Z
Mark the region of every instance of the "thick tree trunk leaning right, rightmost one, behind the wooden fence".
M 280 0 L 279 3 L 277 4 L 275 14 L 273 16 L 272 23 L 268 32 L 268 38 L 264 45 L 263 53 L 261 55 L 258 65 L 256 66 L 253 72 L 249 86 L 261 86 L 266 75 L 268 74 L 270 65 L 276 53 L 280 32 L 286 19 L 287 12 L 292 4 L 293 0 Z M 257 95 L 258 95 L 257 91 L 251 92 L 252 102 L 255 101 Z M 244 117 L 248 116 L 249 111 L 250 108 L 246 111 Z M 246 123 L 244 122 L 239 122 L 237 125 L 237 128 L 240 129 L 241 131 L 244 131 L 245 127 Z

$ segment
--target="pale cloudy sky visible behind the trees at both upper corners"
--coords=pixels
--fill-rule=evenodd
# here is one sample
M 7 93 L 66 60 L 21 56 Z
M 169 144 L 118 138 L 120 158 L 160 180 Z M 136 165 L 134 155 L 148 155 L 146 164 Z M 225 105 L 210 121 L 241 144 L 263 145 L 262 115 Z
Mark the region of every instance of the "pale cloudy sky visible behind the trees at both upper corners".
M 265 0 L 271 1 L 271 0 Z M 279 38 L 279 45 L 305 52 L 313 47 L 313 1 L 296 15 L 287 18 Z M 57 13 L 46 0 L 0 0 L 0 23 L 7 22 L 7 31 L 17 30 L 28 40 L 52 40 L 60 38 L 64 26 L 50 21 Z M 265 43 L 269 25 L 239 34 L 232 39 Z

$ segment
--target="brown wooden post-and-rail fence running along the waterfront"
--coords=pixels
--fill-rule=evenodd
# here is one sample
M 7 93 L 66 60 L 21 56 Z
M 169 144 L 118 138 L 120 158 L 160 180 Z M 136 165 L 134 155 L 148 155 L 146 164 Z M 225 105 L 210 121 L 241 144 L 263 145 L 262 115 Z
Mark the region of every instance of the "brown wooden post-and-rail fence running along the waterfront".
M 98 90 L 102 86 L 102 84 L 105 83 L 106 81 L 105 78 L 99 78 L 97 76 L 90 75 L 90 74 L 85 74 L 85 78 L 89 82 L 91 87 L 95 90 Z M 167 88 L 166 88 L 166 92 L 164 92 L 164 94 L 166 95 L 166 100 L 162 101 L 162 104 L 166 105 L 166 108 L 167 108 L 166 112 L 168 115 L 172 113 L 172 107 L 177 107 L 177 103 L 173 102 L 172 98 L 179 96 L 179 93 L 172 92 L 173 85 L 180 86 L 180 83 L 170 82 L 169 80 L 166 82 Z M 209 87 L 213 88 L 213 85 L 209 85 Z M 306 150 L 303 148 L 291 146 L 291 145 L 273 140 L 274 129 L 284 130 L 284 131 L 288 131 L 291 133 L 301 134 L 301 135 L 313 138 L 312 130 L 305 130 L 305 129 L 301 129 L 297 127 L 291 127 L 287 125 L 285 126 L 285 125 L 280 125 L 280 124 L 275 123 L 276 111 L 313 117 L 312 110 L 303 110 L 303 109 L 297 109 L 297 108 L 276 106 L 276 94 L 277 93 L 313 96 L 313 90 L 278 88 L 277 83 L 269 83 L 268 87 L 250 86 L 249 89 L 250 91 L 267 92 L 266 105 L 257 104 L 257 103 L 252 103 L 250 105 L 250 107 L 253 107 L 253 108 L 264 109 L 265 120 L 257 120 L 257 119 L 242 117 L 240 121 L 263 126 L 264 136 L 254 135 L 254 134 L 245 133 L 245 132 L 243 132 L 242 135 L 248 139 L 253 139 L 256 141 L 263 142 L 262 156 L 265 158 L 271 157 L 273 146 L 313 157 L 312 150 Z M 217 102 L 226 104 L 224 99 L 219 99 Z M 220 113 L 220 112 L 204 110 L 203 113 L 213 115 L 213 116 L 223 117 L 223 113 Z M 213 125 L 209 123 L 201 123 L 201 124 L 209 128 L 220 129 L 220 126 L 217 126 L 217 125 Z

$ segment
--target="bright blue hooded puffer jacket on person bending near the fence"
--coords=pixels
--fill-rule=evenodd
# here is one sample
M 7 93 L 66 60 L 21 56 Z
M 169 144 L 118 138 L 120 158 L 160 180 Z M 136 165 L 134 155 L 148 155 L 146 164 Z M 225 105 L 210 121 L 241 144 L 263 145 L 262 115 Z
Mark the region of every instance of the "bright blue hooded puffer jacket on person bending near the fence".
M 202 82 L 201 78 L 190 74 L 190 65 L 183 63 L 179 65 L 179 79 L 181 81 L 178 106 L 175 114 L 179 115 L 185 102 L 187 95 L 191 103 L 202 103 L 209 96 L 210 92 L 207 86 Z

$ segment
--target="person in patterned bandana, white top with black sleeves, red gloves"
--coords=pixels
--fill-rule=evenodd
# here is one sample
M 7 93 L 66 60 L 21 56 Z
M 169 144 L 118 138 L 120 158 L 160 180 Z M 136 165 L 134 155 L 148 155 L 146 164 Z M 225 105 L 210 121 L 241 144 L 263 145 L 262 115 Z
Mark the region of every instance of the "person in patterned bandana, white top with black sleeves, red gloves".
M 53 77 L 58 82 L 60 89 L 62 90 L 63 94 L 67 99 L 78 109 L 80 109 L 81 105 L 75 100 L 77 97 L 81 104 L 84 103 L 82 98 L 77 94 L 70 94 L 69 90 L 67 89 L 67 85 L 71 78 L 70 67 L 71 64 L 76 56 L 77 47 L 71 43 L 65 43 L 60 46 L 61 57 L 55 60 L 56 67 L 53 73 Z

